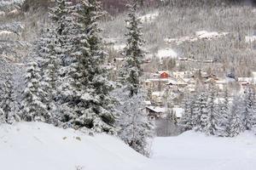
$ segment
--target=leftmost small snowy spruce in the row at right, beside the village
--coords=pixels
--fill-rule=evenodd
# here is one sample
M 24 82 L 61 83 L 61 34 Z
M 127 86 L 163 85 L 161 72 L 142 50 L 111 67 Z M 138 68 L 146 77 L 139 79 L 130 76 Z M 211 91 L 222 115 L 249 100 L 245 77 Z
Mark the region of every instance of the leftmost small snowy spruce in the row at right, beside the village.
M 183 127 L 184 131 L 191 130 L 195 127 L 195 96 L 185 100 L 184 115 L 182 116 L 179 126 Z

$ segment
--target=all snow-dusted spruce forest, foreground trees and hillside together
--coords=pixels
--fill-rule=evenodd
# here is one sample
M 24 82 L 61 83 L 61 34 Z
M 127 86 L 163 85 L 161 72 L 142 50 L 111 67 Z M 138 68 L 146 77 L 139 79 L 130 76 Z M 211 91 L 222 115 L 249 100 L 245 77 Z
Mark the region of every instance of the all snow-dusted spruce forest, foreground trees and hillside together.
M 142 82 L 147 72 L 164 68 L 157 58 L 145 66 L 147 55 L 169 46 L 166 38 L 190 36 L 199 29 L 229 32 L 214 41 L 171 44 L 177 54 L 211 59 L 212 65 L 173 66 L 170 59 L 166 67 L 250 77 L 255 71 L 255 42 L 247 43 L 244 37 L 256 30 L 253 5 L 229 0 L 2 0 L 0 122 L 46 122 L 90 135 L 109 133 L 149 156 L 155 124 L 145 111 L 150 92 Z M 149 12 L 157 13 L 157 20 L 139 18 Z M 121 52 L 109 46 L 112 37 L 125 44 Z M 113 73 L 111 61 L 119 56 L 125 64 Z M 177 125 L 181 132 L 194 129 L 235 137 L 253 130 L 254 85 L 238 93 L 230 83 L 219 92 L 213 83 L 201 82 L 200 71 L 195 93 L 183 94 L 179 101 L 184 109 Z M 168 104 L 172 98 L 166 96 Z

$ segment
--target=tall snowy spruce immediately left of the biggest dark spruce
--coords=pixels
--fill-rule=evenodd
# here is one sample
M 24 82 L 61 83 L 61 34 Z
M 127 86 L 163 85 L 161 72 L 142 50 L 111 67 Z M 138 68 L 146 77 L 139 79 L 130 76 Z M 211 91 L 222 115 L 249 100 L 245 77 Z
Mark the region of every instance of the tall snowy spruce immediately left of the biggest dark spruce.
M 74 72 L 73 62 L 74 58 L 71 56 L 73 50 L 73 25 L 75 20 L 73 18 L 74 6 L 71 1 L 57 0 L 55 7 L 49 11 L 49 18 L 52 21 L 52 26 L 49 31 L 54 35 L 55 54 L 51 54 L 56 59 L 57 67 L 57 95 L 56 101 L 61 105 L 66 105 L 67 101 L 72 100 L 73 82 L 72 74 Z M 67 106 L 67 105 L 66 105 Z M 67 108 L 67 107 L 66 107 Z M 62 110 L 62 112 L 69 112 Z

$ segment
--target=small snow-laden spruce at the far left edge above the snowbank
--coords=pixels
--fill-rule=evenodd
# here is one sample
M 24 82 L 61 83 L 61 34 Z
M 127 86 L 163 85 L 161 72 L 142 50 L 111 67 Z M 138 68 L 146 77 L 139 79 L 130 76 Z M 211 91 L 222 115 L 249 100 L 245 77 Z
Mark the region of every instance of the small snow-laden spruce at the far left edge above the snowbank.
M 15 101 L 15 92 L 13 82 L 10 77 L 7 77 L 7 81 L 3 83 L 3 96 L 0 100 L 1 113 L 3 114 L 3 122 L 12 124 L 20 120 L 20 116 L 17 113 Z M 0 114 L 1 114 L 0 113 Z M 1 119 L 2 119 L 1 118 Z

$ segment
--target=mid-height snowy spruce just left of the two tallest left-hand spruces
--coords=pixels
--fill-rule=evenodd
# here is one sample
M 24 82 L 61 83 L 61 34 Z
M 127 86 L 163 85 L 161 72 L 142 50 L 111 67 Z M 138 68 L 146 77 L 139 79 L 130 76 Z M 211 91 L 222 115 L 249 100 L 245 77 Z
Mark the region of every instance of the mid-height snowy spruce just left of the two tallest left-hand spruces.
M 38 61 L 40 62 L 40 71 L 42 79 L 40 80 L 40 88 L 43 90 L 42 102 L 46 105 L 47 111 L 52 115 L 51 123 L 58 125 L 60 117 L 58 105 L 56 103 L 58 68 L 61 65 L 60 59 L 56 57 L 55 51 L 56 38 L 52 29 L 47 29 L 43 37 L 40 38 L 38 47 Z M 36 49 L 37 50 L 37 49 Z

